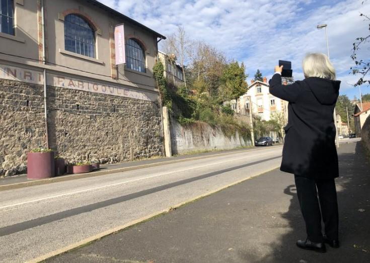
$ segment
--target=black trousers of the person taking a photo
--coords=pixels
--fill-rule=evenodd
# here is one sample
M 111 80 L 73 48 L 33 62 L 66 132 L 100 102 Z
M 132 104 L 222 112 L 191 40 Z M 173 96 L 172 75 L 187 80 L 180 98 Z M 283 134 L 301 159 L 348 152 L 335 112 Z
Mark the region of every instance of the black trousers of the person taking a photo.
M 321 216 L 326 236 L 330 240 L 338 239 L 339 216 L 334 179 L 315 180 L 294 176 L 294 180 L 301 211 L 306 222 L 308 239 L 312 242 L 323 242 Z

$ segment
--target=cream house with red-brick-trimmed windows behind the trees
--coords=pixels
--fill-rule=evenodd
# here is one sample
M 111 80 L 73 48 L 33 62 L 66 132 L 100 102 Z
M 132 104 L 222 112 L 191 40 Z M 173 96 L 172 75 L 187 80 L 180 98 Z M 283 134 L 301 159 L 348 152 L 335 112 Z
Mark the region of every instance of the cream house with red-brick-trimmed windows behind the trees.
M 270 94 L 266 77 L 263 81 L 252 80 L 248 92 L 242 95 L 238 102 L 232 100 L 224 103 L 226 104 L 230 104 L 231 108 L 241 115 L 248 115 L 252 109 L 252 115 L 264 121 L 269 121 L 273 114 L 283 114 L 287 120 L 288 103 Z

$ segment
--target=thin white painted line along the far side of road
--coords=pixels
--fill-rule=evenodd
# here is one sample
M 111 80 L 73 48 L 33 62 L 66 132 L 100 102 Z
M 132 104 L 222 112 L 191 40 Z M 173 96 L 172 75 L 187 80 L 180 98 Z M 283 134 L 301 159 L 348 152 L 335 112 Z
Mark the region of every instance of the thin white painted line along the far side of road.
M 104 188 L 119 186 L 119 185 L 132 183 L 132 182 L 137 182 L 137 181 L 141 181 L 141 180 L 145 180 L 145 179 L 151 179 L 151 178 L 155 178 L 155 177 L 166 176 L 167 174 L 171 174 L 171 173 L 175 173 L 175 172 L 183 172 L 183 171 L 196 169 L 196 168 L 207 167 L 207 166 L 211 166 L 211 165 L 215 165 L 215 164 L 227 163 L 227 162 L 242 160 L 242 159 L 251 158 L 251 157 L 258 157 L 258 156 L 262 156 L 262 155 L 266 155 L 266 154 L 270 154 L 270 153 L 275 153 L 275 152 L 264 152 L 263 154 L 249 155 L 249 156 L 244 156 L 244 157 L 238 158 L 238 159 L 232 159 L 232 160 L 228 160 L 228 161 L 219 161 L 219 162 L 216 162 L 216 163 L 209 163 L 209 164 L 194 166 L 194 167 L 190 167 L 190 168 L 186 168 L 186 169 L 180 169 L 180 170 L 169 171 L 169 172 L 165 172 L 165 173 L 159 173 L 159 174 L 155 174 L 153 176 L 136 178 L 136 179 L 120 182 L 120 183 L 104 185 L 104 186 L 100 186 L 100 187 L 94 187 L 94 188 L 90 188 L 90 189 L 84 189 L 84 190 L 65 193 L 65 194 L 60 194 L 60 195 L 39 198 L 39 199 L 31 200 L 31 201 L 26 201 L 26 202 L 21 202 L 21 203 L 17 203 L 17 204 L 2 206 L 2 207 L 0 207 L 0 210 L 11 208 L 11 207 L 16 207 L 16 206 L 21 206 L 21 205 L 26 205 L 26 204 L 31 204 L 31 203 L 36 203 L 36 202 L 40 202 L 40 201 L 50 200 L 50 199 L 56 199 L 56 198 L 60 198 L 60 197 L 78 195 L 78 194 L 85 193 L 85 192 L 92 192 L 92 191 L 95 191 L 95 190 L 100 190 L 100 189 L 104 189 Z

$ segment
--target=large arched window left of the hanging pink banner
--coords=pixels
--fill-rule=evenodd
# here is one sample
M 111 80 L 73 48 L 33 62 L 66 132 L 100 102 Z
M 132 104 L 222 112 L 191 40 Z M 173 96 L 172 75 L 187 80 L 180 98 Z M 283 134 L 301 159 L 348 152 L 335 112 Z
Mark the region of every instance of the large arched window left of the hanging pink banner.
M 95 32 L 90 24 L 78 15 L 64 18 L 65 50 L 88 57 L 95 57 Z

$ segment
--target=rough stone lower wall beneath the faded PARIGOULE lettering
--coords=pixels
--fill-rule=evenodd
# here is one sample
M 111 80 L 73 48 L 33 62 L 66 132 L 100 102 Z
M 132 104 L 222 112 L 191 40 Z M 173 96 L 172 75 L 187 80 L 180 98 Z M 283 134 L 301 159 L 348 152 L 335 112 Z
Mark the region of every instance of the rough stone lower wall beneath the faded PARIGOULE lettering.
M 68 162 L 113 163 L 163 155 L 159 105 L 47 87 L 49 147 Z M 0 80 L 0 175 L 26 171 L 27 152 L 45 146 L 43 86 Z

